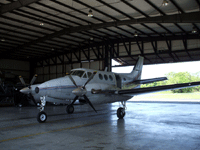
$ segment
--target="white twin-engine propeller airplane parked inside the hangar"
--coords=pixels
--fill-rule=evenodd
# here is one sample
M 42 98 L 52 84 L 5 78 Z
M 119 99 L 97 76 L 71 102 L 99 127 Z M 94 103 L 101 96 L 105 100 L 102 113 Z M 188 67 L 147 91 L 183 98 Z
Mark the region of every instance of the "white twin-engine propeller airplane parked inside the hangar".
M 136 65 L 131 73 L 113 73 L 108 71 L 97 71 L 93 69 L 78 68 L 72 69 L 69 75 L 46 81 L 35 88 L 35 93 L 40 96 L 40 112 L 37 121 L 44 123 L 47 114 L 44 107 L 48 98 L 68 100 L 69 105 L 66 112 L 74 112 L 74 103 L 82 100 L 89 104 L 96 111 L 94 104 L 105 104 L 121 102 L 117 109 L 117 117 L 122 119 L 125 116 L 126 101 L 136 95 L 159 92 L 172 89 L 180 89 L 200 85 L 200 82 L 165 85 L 157 87 L 140 88 L 141 84 L 167 80 L 166 77 L 141 80 L 144 58 L 139 56 Z M 122 89 L 123 86 L 133 84 L 132 89 Z

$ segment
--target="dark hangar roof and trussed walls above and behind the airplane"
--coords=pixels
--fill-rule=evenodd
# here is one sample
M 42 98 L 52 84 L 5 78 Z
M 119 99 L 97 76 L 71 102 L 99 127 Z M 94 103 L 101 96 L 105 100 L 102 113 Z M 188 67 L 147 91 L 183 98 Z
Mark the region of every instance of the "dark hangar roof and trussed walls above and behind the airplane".
M 200 60 L 199 0 L 0 2 L 0 69 L 29 82 L 73 68 Z M 88 15 L 89 14 L 89 15 Z M 11 76 L 6 74 L 5 76 Z

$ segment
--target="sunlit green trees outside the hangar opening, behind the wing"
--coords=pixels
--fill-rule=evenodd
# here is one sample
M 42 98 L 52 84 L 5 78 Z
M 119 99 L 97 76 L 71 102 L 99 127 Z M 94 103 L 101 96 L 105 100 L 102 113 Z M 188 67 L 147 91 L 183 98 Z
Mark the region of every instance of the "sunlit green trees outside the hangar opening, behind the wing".
M 189 72 L 179 72 L 179 73 L 170 72 L 166 76 L 168 78 L 168 80 L 166 80 L 166 81 L 144 84 L 144 85 L 141 85 L 141 87 L 143 87 L 143 88 L 144 87 L 154 87 L 154 86 L 200 81 L 199 73 L 191 75 Z M 172 90 L 173 93 L 190 93 L 190 92 L 197 92 L 197 91 L 200 91 L 200 86 Z

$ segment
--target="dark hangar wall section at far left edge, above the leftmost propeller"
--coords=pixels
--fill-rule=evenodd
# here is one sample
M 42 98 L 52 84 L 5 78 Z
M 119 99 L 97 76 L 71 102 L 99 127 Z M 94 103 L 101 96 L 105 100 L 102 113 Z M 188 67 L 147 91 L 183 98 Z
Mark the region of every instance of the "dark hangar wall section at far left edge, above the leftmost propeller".
M 6 78 L 18 78 L 21 75 L 26 83 L 30 82 L 30 63 L 28 61 L 19 61 L 11 59 L 0 59 L 0 71 L 7 72 Z M 20 82 L 20 80 L 18 80 Z

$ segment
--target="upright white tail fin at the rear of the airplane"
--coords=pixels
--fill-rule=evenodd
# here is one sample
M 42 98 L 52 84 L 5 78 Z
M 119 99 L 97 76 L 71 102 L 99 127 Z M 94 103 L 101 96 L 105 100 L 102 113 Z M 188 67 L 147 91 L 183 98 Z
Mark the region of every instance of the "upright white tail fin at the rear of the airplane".
M 133 79 L 133 81 L 141 79 L 143 63 L 144 63 L 144 57 L 139 56 L 132 72 L 128 75 L 129 78 Z

